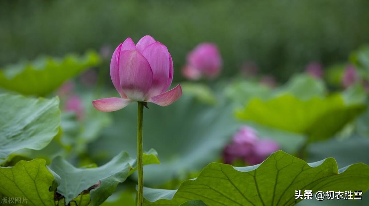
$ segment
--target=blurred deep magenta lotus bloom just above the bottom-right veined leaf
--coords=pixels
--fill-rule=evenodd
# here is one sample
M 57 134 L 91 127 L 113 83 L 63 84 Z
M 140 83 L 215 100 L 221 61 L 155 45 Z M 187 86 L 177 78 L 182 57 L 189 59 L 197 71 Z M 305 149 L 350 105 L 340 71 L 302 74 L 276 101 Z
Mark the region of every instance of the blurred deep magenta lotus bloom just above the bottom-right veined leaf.
M 279 145 L 275 141 L 259 139 L 254 129 L 243 126 L 233 135 L 232 142 L 225 147 L 223 158 L 227 164 L 242 159 L 249 165 L 256 165 L 278 149 Z

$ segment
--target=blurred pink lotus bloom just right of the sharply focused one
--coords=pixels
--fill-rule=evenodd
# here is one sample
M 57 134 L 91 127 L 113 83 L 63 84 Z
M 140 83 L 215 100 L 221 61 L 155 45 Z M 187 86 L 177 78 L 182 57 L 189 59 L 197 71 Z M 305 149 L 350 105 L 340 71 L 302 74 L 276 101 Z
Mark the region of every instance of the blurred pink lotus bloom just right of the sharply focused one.
M 182 68 L 184 77 L 199 80 L 213 79 L 221 71 L 222 59 L 218 47 L 213 43 L 201 43 L 187 55 L 187 65 Z

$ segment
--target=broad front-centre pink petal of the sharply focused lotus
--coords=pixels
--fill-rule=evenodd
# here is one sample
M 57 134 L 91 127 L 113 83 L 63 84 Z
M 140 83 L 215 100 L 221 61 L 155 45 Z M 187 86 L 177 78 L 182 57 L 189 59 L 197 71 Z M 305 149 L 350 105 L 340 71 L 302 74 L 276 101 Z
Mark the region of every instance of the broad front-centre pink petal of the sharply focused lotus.
M 122 51 L 119 64 L 120 86 L 133 101 L 144 101 L 152 85 L 149 62 L 137 50 Z

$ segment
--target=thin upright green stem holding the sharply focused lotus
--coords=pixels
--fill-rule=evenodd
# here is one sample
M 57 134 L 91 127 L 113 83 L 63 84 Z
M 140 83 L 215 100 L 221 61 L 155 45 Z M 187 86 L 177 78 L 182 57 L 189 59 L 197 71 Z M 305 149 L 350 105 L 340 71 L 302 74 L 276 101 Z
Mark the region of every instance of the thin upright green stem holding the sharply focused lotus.
M 138 171 L 138 191 L 137 206 L 142 206 L 144 193 L 144 170 L 142 166 L 142 119 L 144 115 L 144 103 L 138 102 L 137 111 L 137 171 Z

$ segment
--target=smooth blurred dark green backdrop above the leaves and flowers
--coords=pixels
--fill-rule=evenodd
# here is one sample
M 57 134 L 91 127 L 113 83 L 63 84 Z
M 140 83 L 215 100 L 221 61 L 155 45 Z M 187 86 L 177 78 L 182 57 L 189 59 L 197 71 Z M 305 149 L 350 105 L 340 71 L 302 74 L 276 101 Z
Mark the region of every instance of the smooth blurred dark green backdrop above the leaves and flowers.
M 284 81 L 310 61 L 341 62 L 369 42 L 368 10 L 367 0 L 1 1 L 0 65 L 115 48 L 128 36 L 137 42 L 150 34 L 168 47 L 175 68 L 196 44 L 211 41 L 223 75 L 253 61 Z

